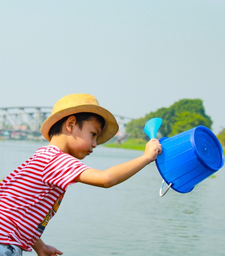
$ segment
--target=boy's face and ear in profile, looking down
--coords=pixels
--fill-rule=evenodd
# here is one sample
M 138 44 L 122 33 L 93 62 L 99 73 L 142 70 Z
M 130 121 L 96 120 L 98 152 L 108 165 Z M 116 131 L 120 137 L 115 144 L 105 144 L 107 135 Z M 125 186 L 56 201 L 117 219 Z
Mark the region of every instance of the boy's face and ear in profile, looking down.
M 76 124 L 68 141 L 68 153 L 77 159 L 84 159 L 96 148 L 101 131 L 101 124 L 94 118 L 84 121 L 81 130 Z

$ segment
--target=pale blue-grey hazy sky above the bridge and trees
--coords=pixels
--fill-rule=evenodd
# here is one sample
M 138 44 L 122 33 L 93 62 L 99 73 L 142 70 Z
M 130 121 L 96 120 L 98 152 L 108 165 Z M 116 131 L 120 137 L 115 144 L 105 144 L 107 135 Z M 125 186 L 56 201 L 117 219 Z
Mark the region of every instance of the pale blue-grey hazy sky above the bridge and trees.
M 201 99 L 225 128 L 225 0 L 1 0 L 0 108 L 88 93 L 141 118 Z

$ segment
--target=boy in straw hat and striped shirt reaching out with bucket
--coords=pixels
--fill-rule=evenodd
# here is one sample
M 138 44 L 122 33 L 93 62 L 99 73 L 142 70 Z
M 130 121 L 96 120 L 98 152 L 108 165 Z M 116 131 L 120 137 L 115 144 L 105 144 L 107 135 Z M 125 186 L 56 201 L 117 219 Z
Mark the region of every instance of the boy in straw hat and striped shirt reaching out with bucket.
M 41 126 L 49 145 L 39 148 L 0 182 L 0 256 L 20 256 L 22 250 L 31 251 L 32 247 L 38 256 L 62 255 L 40 236 L 68 185 L 115 186 L 153 162 L 162 151 L 159 141 L 151 139 L 141 157 L 105 171 L 79 162 L 117 131 L 115 117 L 89 94 L 70 94 L 55 103 Z

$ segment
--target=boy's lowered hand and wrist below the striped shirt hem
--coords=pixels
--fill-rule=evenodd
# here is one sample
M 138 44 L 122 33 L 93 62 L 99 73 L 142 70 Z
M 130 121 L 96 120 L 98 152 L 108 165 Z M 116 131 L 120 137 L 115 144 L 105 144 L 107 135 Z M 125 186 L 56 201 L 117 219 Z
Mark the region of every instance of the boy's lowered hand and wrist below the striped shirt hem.
M 56 249 L 55 247 L 46 245 L 42 239 L 39 239 L 36 243 L 34 243 L 33 249 L 38 254 L 38 256 L 57 256 L 63 254 L 63 252 Z

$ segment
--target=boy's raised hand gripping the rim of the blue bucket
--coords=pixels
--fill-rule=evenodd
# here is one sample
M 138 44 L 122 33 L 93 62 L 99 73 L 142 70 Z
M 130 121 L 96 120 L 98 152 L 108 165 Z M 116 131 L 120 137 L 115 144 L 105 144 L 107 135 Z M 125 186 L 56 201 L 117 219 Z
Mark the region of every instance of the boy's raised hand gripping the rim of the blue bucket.
M 162 145 L 158 139 L 150 139 L 146 144 L 144 156 L 153 162 L 162 153 Z

